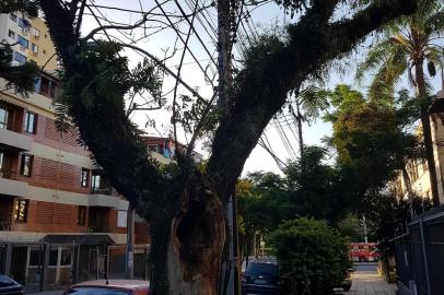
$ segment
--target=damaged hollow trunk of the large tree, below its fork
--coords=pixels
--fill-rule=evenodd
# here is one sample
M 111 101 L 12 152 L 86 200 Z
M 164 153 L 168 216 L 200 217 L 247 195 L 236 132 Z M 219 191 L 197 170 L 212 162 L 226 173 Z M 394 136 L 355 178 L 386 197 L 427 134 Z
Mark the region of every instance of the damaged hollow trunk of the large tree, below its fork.
M 225 220 L 219 198 L 190 181 L 178 213 L 153 221 L 153 294 L 217 295 Z

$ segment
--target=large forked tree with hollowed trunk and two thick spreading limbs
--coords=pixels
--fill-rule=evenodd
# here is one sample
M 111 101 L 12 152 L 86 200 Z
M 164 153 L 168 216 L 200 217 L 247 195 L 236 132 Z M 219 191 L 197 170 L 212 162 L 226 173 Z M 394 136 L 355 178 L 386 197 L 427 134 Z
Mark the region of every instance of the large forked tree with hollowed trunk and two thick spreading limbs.
M 196 168 L 189 153 L 178 154 L 177 169 L 161 172 L 124 109 L 124 95 L 141 82 L 118 55 L 119 46 L 129 45 L 91 45 L 82 38 L 79 27 L 86 1 L 39 1 L 65 69 L 68 114 L 113 186 L 151 222 L 153 294 L 219 294 L 223 206 L 288 92 L 371 32 L 416 9 L 416 0 L 363 1 L 354 13 L 338 20 L 334 14 L 344 2 L 355 1 L 283 1 L 301 16 L 288 26 L 287 38 L 264 36 L 246 51 L 244 68 L 219 104 L 205 172 Z M 150 64 L 141 76 L 153 79 Z

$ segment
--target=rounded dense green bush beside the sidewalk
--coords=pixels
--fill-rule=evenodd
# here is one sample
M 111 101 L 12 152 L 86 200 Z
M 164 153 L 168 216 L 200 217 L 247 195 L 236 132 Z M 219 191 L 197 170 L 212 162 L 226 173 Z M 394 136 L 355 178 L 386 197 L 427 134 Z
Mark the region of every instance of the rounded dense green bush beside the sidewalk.
M 349 241 L 325 221 L 301 217 L 271 234 L 288 294 L 332 294 L 351 267 Z

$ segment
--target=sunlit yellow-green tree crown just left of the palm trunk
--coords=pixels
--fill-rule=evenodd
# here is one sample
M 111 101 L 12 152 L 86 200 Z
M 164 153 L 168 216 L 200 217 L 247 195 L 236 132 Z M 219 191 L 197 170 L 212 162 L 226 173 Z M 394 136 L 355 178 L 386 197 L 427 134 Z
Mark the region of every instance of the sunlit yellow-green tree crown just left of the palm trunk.
M 335 107 L 325 117 L 332 123 L 328 141 L 338 153 L 338 163 L 352 172 L 357 189 L 383 188 L 410 158 L 421 157 L 423 150 L 408 127 L 418 119 L 418 108 L 401 93 L 399 99 L 366 101 L 347 85 L 330 93 Z

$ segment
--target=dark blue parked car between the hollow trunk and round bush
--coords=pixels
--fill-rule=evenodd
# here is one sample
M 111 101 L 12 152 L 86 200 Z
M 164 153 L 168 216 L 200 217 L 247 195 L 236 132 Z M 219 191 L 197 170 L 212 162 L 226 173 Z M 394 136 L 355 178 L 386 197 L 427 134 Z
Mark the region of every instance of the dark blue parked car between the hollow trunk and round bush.
M 252 261 L 242 278 L 242 294 L 281 294 L 279 270 L 276 262 Z

